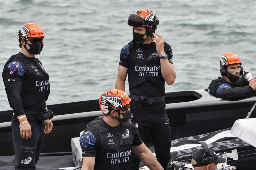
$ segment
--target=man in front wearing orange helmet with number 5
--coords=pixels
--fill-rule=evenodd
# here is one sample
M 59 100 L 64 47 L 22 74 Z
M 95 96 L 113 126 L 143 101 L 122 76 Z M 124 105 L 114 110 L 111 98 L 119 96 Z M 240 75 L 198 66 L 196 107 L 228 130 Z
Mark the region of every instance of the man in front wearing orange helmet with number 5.
M 130 101 L 122 90 L 108 90 L 100 96 L 99 106 L 104 117 L 90 122 L 80 137 L 81 170 L 130 169 L 132 151 L 150 169 L 163 169 L 129 121 Z

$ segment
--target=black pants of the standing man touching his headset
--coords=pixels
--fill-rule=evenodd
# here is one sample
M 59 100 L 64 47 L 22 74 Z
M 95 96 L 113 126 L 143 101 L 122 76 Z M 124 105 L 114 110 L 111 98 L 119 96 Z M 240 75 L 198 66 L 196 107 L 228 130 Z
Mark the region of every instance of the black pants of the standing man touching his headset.
M 171 158 L 171 128 L 165 108 L 137 109 L 130 107 L 130 109 L 133 113 L 133 119 L 131 121 L 135 125 L 137 123 L 142 141 L 148 138 L 149 131 L 153 140 L 157 160 L 166 169 Z M 131 155 L 131 169 L 139 169 L 139 162 L 139 157 L 133 153 Z

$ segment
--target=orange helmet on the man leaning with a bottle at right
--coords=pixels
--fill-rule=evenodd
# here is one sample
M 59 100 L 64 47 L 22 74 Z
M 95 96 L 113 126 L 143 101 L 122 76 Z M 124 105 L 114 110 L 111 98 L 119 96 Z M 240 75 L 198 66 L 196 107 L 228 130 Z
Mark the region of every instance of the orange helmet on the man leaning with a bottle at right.
M 233 52 L 227 52 L 223 54 L 219 60 L 219 63 L 223 68 L 229 64 L 236 64 L 236 63 L 240 63 L 240 65 L 242 64 L 240 57 Z

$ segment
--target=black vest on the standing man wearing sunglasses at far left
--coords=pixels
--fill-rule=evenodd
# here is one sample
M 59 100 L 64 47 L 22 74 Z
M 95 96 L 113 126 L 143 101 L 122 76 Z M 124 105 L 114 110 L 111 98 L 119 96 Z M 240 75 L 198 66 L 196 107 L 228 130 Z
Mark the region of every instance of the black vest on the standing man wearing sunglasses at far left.
M 29 77 L 27 77 L 26 75 L 24 75 L 23 77 L 21 93 L 22 102 L 25 103 L 27 106 L 31 106 L 37 103 L 38 101 L 42 100 L 43 98 L 45 98 L 46 101 L 50 94 L 50 82 L 49 75 L 45 72 L 42 63 L 39 60 L 35 60 L 35 63 L 27 59 L 26 56 L 22 53 L 18 53 L 16 55 L 11 56 L 10 59 L 5 63 L 3 72 L 5 71 L 6 66 L 12 61 L 20 62 L 23 65 L 23 67 L 25 65 L 27 68 L 29 68 L 29 71 L 31 73 Z M 6 93 L 9 101 L 9 92 L 7 91 L 7 89 Z M 10 101 L 9 104 L 11 106 Z

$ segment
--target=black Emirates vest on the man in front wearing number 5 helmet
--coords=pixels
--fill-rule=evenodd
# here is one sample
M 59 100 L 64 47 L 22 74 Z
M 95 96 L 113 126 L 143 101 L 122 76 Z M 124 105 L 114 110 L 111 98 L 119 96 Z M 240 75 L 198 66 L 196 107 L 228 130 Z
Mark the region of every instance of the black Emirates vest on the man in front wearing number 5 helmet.
M 102 119 L 92 121 L 86 127 L 87 129 L 94 129 L 101 136 L 101 144 L 97 146 L 95 157 L 95 170 L 130 169 L 131 148 L 134 141 L 130 121 L 125 125 L 120 124 L 116 132 Z

